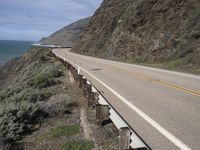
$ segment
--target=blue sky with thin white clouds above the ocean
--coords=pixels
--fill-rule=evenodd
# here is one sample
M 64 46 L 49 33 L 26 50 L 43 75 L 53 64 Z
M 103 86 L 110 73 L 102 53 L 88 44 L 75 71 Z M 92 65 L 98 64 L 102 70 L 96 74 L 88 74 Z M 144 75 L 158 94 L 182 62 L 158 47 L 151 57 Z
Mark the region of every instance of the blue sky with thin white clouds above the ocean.
M 0 0 L 0 40 L 38 41 L 92 16 L 102 0 Z

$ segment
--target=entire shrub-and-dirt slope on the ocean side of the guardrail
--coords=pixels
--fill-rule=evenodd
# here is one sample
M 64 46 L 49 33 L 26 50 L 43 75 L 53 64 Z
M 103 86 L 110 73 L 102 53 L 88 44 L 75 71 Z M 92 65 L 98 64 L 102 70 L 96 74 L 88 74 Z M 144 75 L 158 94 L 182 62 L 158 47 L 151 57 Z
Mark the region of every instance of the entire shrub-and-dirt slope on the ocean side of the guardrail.
M 0 150 L 118 149 L 79 84 L 49 48 L 32 47 L 0 67 Z

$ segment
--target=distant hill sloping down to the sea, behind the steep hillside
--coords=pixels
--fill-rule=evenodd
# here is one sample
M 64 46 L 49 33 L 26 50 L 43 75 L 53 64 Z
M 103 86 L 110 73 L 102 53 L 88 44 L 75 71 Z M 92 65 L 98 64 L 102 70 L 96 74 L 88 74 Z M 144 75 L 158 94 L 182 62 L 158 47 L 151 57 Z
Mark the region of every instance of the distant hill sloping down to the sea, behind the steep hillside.
M 39 43 L 44 45 L 58 45 L 65 47 L 72 47 L 79 38 L 79 35 L 85 29 L 90 18 L 85 18 L 72 23 L 61 30 L 53 33 L 47 38 L 42 38 Z

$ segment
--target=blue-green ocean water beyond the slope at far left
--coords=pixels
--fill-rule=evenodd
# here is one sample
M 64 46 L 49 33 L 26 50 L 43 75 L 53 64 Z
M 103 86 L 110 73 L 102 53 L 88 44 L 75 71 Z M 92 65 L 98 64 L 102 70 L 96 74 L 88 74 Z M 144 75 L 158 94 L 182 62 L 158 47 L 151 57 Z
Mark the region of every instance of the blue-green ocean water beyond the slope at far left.
M 0 65 L 26 52 L 34 42 L 0 40 Z

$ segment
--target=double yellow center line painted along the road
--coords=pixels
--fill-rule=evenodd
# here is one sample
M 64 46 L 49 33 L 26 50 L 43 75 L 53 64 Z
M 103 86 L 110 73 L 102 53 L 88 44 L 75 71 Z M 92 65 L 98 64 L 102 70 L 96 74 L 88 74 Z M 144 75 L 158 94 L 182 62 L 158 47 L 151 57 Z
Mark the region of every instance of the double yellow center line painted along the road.
M 191 90 L 191 89 L 188 89 L 188 88 L 181 87 L 179 85 L 163 82 L 163 81 L 160 81 L 160 80 L 155 80 L 155 79 L 153 79 L 149 76 L 146 76 L 145 74 L 142 74 L 142 73 L 137 73 L 137 72 L 134 72 L 134 71 L 128 71 L 128 70 L 121 69 L 119 67 L 115 67 L 115 66 L 112 66 L 112 65 L 106 65 L 106 66 L 108 66 L 112 69 L 118 70 L 122 73 L 143 79 L 143 80 L 148 80 L 148 81 L 160 84 L 160 85 L 164 85 L 164 86 L 167 86 L 167 87 L 170 87 L 170 88 L 173 88 L 173 89 L 176 89 L 176 90 L 179 90 L 179 91 L 200 97 L 200 92 L 198 92 L 198 91 L 194 91 L 194 90 Z

